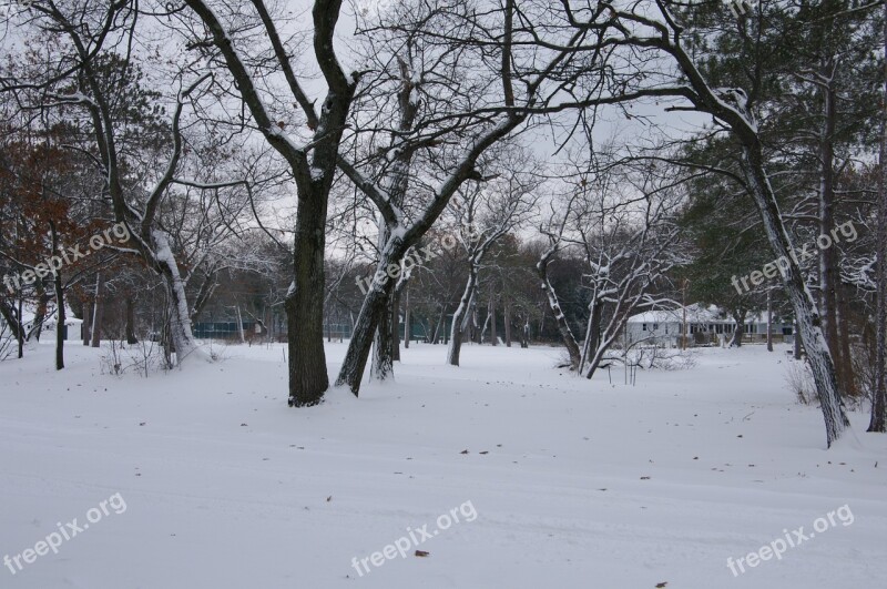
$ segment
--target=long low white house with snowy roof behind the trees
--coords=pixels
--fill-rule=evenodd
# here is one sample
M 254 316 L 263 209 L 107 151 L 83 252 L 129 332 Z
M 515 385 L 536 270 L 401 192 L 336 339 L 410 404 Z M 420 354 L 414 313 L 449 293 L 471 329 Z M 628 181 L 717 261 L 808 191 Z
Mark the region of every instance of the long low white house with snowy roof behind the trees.
M 677 347 L 684 325 L 684 308 L 646 311 L 632 315 L 625 324 L 624 338 L 629 345 L 649 342 L 651 345 Z M 686 307 L 686 325 L 690 345 L 725 344 L 736 331 L 736 322 L 726 312 L 711 305 L 699 304 Z M 763 342 L 767 333 L 767 314 L 750 313 L 745 317 L 743 342 Z M 776 322 L 775 342 L 791 342 L 792 325 Z

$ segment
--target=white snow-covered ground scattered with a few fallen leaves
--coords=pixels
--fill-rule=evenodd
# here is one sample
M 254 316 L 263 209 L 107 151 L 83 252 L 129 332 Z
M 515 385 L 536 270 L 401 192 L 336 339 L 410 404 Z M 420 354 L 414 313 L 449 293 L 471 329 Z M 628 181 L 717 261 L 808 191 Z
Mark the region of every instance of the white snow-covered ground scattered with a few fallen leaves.
M 887 436 L 857 413 L 826 450 L 784 349 L 706 349 L 632 387 L 571 377 L 554 348 L 470 346 L 452 368 L 414 345 L 396 384 L 290 409 L 281 346 L 143 378 L 77 344 L 57 373 L 42 345 L 0 364 L 0 557 L 22 565 L 0 587 L 878 586 Z M 387 545 L 408 556 L 373 557 Z

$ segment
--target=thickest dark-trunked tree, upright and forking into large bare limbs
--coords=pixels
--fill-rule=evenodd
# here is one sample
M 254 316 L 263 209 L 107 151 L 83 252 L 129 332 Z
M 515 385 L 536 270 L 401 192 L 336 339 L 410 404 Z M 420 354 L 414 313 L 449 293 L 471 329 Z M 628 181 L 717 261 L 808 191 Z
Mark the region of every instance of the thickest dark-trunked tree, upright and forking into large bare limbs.
M 292 40 L 281 35 L 265 2 L 252 0 L 255 11 L 252 26 L 262 31 L 271 45 L 269 58 L 265 60 L 263 57 L 259 61 L 273 63 L 274 71 L 283 74 L 288 104 L 300 110 L 310 131 L 307 138 L 288 134 L 285 132 L 287 123 L 275 118 L 274 114 L 279 112 L 279 101 L 268 97 L 281 95 L 279 91 L 259 85 L 269 81 L 263 75 L 267 73 L 265 69 L 251 69 L 247 61 L 246 45 L 254 39 L 238 39 L 236 33 L 244 24 L 243 11 L 227 7 L 231 22 L 226 24 L 216 13 L 224 7 L 211 8 L 204 0 L 185 1 L 205 27 L 205 32 L 195 32 L 194 47 L 210 43 L 222 54 L 236 92 L 252 114 L 253 124 L 287 162 L 296 183 L 293 283 L 286 298 L 289 405 L 316 405 L 329 387 L 323 341 L 327 206 L 343 131 L 360 78 L 359 73 L 346 74 L 343 71 L 334 49 L 341 0 L 316 0 L 312 8 L 314 58 L 326 84 L 326 98 L 319 113 L 296 74 Z

